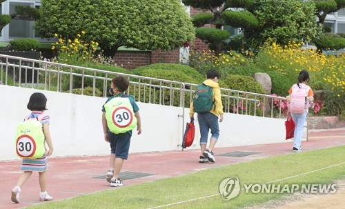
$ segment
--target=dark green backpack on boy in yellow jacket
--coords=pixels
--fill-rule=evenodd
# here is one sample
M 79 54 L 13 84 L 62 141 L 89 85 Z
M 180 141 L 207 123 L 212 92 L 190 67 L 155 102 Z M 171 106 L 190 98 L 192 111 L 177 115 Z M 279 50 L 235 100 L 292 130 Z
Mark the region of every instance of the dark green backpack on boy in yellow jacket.
M 193 98 L 194 112 L 209 112 L 215 106 L 213 101 L 213 88 L 201 83 L 197 86 Z

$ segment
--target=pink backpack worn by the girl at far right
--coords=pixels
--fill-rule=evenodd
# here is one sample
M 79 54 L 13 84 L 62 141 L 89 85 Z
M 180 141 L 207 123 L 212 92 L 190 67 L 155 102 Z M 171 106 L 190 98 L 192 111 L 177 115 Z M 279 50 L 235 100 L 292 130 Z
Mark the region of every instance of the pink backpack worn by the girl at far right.
M 309 86 L 299 86 L 294 84 L 290 95 L 290 112 L 299 114 L 303 113 L 309 107 L 308 91 Z

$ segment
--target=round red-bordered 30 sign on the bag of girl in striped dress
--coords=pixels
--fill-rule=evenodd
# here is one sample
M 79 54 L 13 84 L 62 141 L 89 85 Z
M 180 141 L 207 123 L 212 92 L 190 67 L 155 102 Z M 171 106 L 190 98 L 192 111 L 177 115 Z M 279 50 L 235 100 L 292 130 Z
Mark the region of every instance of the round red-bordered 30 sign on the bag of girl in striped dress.
M 21 135 L 17 139 L 16 150 L 20 157 L 32 157 L 36 151 L 36 143 L 29 135 Z

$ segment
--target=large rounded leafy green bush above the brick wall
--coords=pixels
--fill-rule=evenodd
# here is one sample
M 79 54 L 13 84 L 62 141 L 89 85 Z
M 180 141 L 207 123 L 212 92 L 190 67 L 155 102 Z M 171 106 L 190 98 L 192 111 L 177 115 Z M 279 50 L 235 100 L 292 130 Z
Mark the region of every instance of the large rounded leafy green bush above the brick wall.
M 55 33 L 74 39 L 86 32 L 106 56 L 119 46 L 141 50 L 171 50 L 193 41 L 195 28 L 179 0 L 102 1 L 43 0 L 42 17 L 34 27 L 41 37 Z

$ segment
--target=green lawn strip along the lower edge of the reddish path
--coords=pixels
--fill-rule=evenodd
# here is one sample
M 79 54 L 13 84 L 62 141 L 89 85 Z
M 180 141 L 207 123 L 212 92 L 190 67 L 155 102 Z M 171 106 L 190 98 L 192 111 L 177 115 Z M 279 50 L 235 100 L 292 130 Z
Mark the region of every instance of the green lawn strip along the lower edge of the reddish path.
M 337 179 L 345 179 L 344 162 L 345 146 L 338 146 L 256 159 L 246 163 L 202 170 L 190 175 L 159 179 L 150 183 L 124 186 L 72 199 L 37 204 L 28 208 L 154 208 L 189 199 L 196 200 L 164 208 L 244 208 L 279 199 L 286 194 L 244 194 L 244 190 L 242 190 L 235 199 L 224 201 L 221 195 L 217 195 L 219 194 L 219 183 L 223 179 L 238 177 L 241 188 L 244 183 L 265 183 L 287 177 L 291 178 L 277 181 L 274 184 L 333 183 Z M 342 164 L 339 166 L 319 170 L 340 163 Z M 183 165 L 181 164 L 181 166 Z M 311 172 L 314 170 L 319 171 Z M 306 172 L 310 173 L 300 175 Z M 295 175 L 299 176 L 293 177 Z

